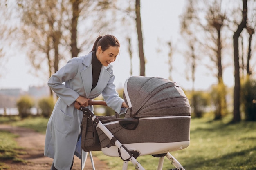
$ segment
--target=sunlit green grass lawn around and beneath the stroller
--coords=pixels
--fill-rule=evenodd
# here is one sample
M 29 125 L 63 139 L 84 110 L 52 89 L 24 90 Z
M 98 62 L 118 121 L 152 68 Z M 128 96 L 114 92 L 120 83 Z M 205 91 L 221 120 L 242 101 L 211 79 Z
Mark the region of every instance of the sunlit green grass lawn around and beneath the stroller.
M 238 124 L 229 124 L 231 118 L 232 115 L 226 116 L 222 121 L 211 121 L 212 116 L 192 119 L 189 147 L 171 152 L 171 154 L 186 170 L 255 170 L 256 122 L 241 121 Z M 29 117 L 23 120 L 12 118 L 12 121 L 3 120 L 0 117 L 0 123 L 32 128 L 41 133 L 45 133 L 47 121 L 48 119 L 42 117 Z M 2 140 L 8 140 L 10 143 L 10 141 L 14 141 L 15 137 L 10 133 L 0 132 L 1 150 L 9 148 L 9 146 L 4 145 Z M 16 144 L 13 146 L 17 147 Z M 0 153 L 8 155 L 8 152 L 5 151 Z M 17 153 L 13 152 L 11 155 L 16 157 L 15 154 Z M 93 152 L 92 154 L 105 161 L 111 170 L 122 169 L 123 161 L 119 157 L 108 157 L 102 152 Z M 146 170 L 157 169 L 158 159 L 151 155 L 138 157 L 137 160 Z M 165 158 L 163 170 L 171 168 L 174 166 Z M 128 163 L 128 170 L 135 170 L 130 162 Z

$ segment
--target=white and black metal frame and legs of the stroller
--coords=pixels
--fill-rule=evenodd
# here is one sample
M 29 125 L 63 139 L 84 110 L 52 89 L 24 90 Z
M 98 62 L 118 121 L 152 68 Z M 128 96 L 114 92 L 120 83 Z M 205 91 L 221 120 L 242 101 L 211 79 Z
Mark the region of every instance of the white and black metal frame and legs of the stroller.
M 136 159 L 139 155 L 136 155 L 133 151 L 128 150 L 123 144 L 121 144 L 116 139 L 116 137 L 110 132 L 110 130 L 108 130 L 108 128 L 106 128 L 106 126 L 104 126 L 104 124 L 97 118 L 97 116 L 94 115 L 94 113 L 92 113 L 88 108 L 85 108 L 83 106 L 80 106 L 79 110 L 83 111 L 83 114 L 85 114 L 89 120 L 93 121 L 94 124 L 96 124 L 96 126 L 99 127 L 119 149 L 119 157 L 124 161 L 122 170 L 127 170 L 128 161 L 130 161 L 135 166 L 136 170 L 145 170 Z M 89 152 L 89 154 L 92 167 L 94 169 L 94 162 L 92 159 L 91 152 Z M 162 154 L 161 157 L 159 157 L 157 170 L 162 170 L 164 164 L 164 157 L 167 157 L 171 161 L 171 164 L 173 164 L 176 167 L 174 169 L 169 170 L 185 170 L 183 166 L 169 152 L 166 154 L 164 153 Z

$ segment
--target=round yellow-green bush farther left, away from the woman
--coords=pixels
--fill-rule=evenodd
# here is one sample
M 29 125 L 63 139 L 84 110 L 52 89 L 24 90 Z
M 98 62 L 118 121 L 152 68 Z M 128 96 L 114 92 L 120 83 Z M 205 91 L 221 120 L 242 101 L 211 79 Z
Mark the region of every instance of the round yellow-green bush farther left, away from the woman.
M 19 116 L 21 118 L 28 117 L 30 115 L 30 109 L 34 105 L 33 99 L 29 96 L 22 96 L 17 101 L 17 107 L 19 111 Z

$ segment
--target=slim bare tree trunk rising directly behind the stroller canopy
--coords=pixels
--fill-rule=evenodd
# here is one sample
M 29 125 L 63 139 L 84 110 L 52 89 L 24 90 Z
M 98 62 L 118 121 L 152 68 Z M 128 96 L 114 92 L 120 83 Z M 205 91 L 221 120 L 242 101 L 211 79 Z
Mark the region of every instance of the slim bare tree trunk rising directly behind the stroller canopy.
M 145 57 L 144 57 L 144 50 L 143 50 L 143 36 L 142 36 L 141 18 L 140 18 L 140 0 L 136 0 L 135 12 L 136 12 L 136 27 L 137 27 L 138 45 L 139 45 L 140 75 L 145 76 Z

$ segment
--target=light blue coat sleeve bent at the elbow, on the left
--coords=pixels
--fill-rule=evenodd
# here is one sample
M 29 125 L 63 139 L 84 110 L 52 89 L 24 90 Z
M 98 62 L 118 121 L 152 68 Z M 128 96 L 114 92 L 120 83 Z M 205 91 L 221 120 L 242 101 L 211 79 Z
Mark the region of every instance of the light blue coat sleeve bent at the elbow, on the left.
M 48 86 L 60 97 L 65 104 L 70 106 L 79 97 L 79 94 L 71 88 L 63 84 L 70 79 L 73 79 L 78 72 L 78 61 L 72 58 L 65 66 L 59 69 L 52 75 L 48 81 Z

